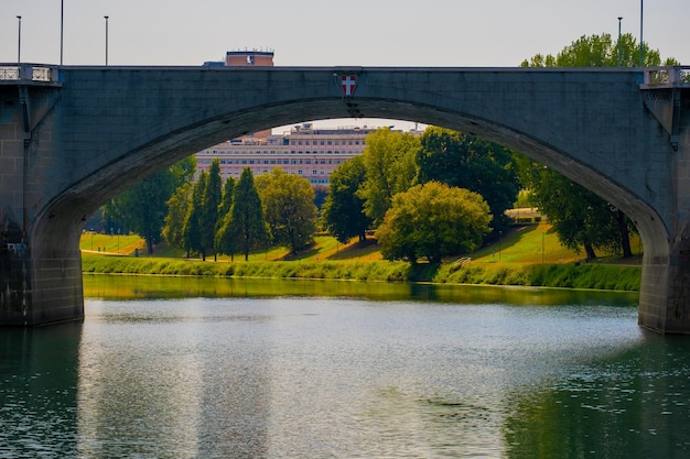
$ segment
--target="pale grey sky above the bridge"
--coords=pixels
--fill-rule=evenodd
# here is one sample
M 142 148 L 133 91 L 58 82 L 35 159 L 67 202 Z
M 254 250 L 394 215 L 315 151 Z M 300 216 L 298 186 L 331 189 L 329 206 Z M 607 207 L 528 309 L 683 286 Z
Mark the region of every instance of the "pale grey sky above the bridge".
M 273 51 L 277 66 L 514 67 L 582 35 L 639 40 L 644 0 L 0 0 L 0 63 L 201 65 Z M 19 20 L 21 15 L 21 48 Z M 644 41 L 690 65 L 690 0 L 644 2 Z M 356 124 L 362 124 L 362 120 Z M 349 123 L 352 124 L 352 123 Z

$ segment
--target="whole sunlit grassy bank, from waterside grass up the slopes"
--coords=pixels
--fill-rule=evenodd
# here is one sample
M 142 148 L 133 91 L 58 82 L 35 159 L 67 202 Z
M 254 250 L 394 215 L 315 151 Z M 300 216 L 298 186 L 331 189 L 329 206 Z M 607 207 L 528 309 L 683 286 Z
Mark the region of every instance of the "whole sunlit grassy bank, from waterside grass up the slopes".
M 96 239 L 98 238 L 98 240 Z M 466 263 L 455 260 L 440 266 L 381 260 L 376 244 L 339 244 L 331 237 L 316 238 L 304 253 L 290 256 L 284 249 L 254 253 L 249 261 L 186 260 L 180 252 L 163 249 L 143 256 L 137 237 L 85 234 L 82 238 L 85 273 L 235 276 L 267 278 L 333 278 L 385 282 L 434 282 L 446 284 L 525 285 L 567 288 L 638 291 L 638 264 L 613 264 L 615 259 L 582 263 L 561 247 L 546 225 L 524 227 L 500 241 L 471 254 Z M 133 239 L 129 239 L 133 238 Z M 99 250 L 90 250 L 91 239 Z M 116 245 L 114 245 L 114 242 Z M 114 250 L 115 249 L 115 250 Z M 133 256 L 134 251 L 140 256 Z M 639 261 L 639 259 L 636 259 Z

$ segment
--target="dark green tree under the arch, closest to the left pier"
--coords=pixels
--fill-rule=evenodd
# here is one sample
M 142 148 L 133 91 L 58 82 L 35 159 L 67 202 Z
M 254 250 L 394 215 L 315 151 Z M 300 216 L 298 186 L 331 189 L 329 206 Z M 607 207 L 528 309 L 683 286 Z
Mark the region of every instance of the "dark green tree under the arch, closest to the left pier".
M 147 252 L 153 253 L 153 245 L 161 241 L 168 214 L 165 203 L 174 189 L 171 168 L 160 170 L 111 199 L 106 212 L 141 236 L 147 242 Z

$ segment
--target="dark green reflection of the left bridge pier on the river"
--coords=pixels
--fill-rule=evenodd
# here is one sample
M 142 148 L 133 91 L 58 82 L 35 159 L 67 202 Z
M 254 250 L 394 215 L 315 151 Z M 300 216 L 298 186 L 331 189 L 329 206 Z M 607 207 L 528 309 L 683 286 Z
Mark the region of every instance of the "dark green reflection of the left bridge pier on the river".
M 80 324 L 0 330 L 0 457 L 75 456 Z

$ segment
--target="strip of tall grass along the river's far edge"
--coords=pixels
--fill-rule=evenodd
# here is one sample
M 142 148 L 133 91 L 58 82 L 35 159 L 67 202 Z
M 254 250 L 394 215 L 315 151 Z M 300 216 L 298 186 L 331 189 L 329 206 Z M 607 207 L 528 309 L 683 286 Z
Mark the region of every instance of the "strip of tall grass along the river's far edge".
M 442 264 L 382 260 L 213 262 L 83 255 L 84 273 L 215 277 L 315 278 L 439 284 L 520 285 L 639 291 L 640 267 L 599 263 Z

